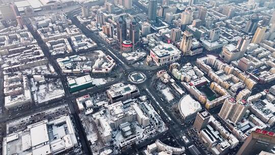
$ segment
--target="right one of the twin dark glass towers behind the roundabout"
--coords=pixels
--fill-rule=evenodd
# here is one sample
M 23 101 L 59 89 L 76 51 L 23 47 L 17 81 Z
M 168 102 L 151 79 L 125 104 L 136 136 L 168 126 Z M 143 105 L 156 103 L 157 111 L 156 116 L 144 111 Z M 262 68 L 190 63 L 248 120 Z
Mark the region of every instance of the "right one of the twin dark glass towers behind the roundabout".
M 140 46 L 140 23 L 137 21 L 136 17 L 130 22 L 130 41 L 133 44 L 132 50 Z

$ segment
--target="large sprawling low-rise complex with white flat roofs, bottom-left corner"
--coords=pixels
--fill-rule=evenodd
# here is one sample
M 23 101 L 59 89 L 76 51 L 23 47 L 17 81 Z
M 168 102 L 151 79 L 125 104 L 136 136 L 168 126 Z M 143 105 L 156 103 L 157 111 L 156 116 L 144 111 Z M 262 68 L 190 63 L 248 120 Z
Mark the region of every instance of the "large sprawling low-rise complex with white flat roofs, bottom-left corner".
M 73 122 L 70 116 L 63 115 L 7 135 L 3 140 L 3 154 L 63 154 L 77 146 Z

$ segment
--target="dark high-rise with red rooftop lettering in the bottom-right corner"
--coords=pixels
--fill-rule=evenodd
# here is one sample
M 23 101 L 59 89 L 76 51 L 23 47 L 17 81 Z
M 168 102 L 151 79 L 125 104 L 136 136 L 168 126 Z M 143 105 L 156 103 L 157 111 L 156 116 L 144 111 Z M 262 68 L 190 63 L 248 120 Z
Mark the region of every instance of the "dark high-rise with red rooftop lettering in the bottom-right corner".
M 248 138 L 237 152 L 237 155 L 256 155 L 261 151 L 270 151 L 275 145 L 275 134 L 273 132 L 257 128 L 251 132 Z

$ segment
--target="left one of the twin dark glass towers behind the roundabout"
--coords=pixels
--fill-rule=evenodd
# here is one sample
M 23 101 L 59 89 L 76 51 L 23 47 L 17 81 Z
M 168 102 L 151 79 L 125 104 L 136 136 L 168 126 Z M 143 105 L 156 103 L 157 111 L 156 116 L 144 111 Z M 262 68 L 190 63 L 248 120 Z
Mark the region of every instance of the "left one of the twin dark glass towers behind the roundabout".
M 126 40 L 127 37 L 127 25 L 123 16 L 120 16 L 117 20 L 117 37 L 120 47 L 122 48 L 122 42 Z

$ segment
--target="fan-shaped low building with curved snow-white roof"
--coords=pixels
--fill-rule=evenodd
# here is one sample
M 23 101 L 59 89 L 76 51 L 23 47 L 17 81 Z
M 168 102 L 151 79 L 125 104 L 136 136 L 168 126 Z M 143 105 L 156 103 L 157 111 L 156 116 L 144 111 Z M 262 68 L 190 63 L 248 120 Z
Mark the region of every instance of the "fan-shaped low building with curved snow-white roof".
M 179 101 L 179 112 L 184 121 L 195 118 L 200 110 L 201 104 L 190 95 L 183 96 Z

